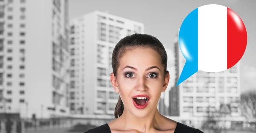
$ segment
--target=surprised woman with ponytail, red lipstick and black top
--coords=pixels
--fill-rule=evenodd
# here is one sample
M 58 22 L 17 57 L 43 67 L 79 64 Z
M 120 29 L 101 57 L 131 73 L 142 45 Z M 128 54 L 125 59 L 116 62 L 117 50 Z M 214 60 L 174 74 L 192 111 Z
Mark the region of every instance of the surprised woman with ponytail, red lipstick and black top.
M 116 44 L 111 83 L 119 93 L 115 120 L 85 133 L 203 133 L 162 116 L 157 104 L 169 82 L 163 44 L 145 34 L 127 36 Z

